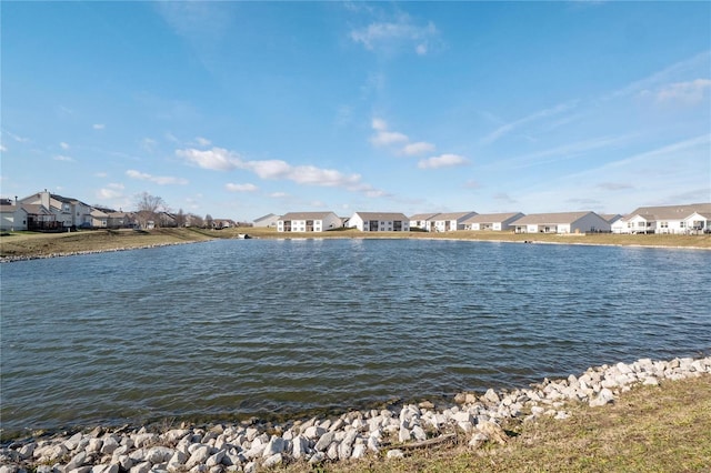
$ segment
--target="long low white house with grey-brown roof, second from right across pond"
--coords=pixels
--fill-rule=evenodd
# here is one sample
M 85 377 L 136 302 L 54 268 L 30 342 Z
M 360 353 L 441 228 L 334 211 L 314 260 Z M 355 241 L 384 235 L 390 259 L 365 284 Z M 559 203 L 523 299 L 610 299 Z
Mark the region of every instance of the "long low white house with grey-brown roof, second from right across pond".
M 609 232 L 610 223 L 595 212 L 532 213 L 511 223 L 517 233 Z

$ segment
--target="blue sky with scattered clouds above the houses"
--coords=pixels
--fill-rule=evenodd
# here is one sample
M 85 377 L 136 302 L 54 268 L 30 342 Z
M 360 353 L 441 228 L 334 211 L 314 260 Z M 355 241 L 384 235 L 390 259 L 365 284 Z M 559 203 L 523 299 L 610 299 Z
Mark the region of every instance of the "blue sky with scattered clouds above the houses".
M 3 197 L 251 221 L 711 201 L 709 2 L 7 2 Z

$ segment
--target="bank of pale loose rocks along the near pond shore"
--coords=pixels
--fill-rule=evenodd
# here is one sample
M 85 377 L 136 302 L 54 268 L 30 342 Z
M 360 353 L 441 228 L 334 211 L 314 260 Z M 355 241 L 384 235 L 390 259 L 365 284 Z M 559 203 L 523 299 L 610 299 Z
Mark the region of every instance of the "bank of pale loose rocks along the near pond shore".
M 293 462 L 320 464 L 372 455 L 403 456 L 408 450 L 465 440 L 472 449 L 505 443 L 502 423 L 539 416 L 564 420 L 570 403 L 602 406 L 633 385 L 658 385 L 711 373 L 711 356 L 591 368 L 580 376 L 544 380 L 530 389 L 482 395 L 461 393 L 454 404 L 429 402 L 397 409 L 353 411 L 334 419 L 283 425 L 259 422 L 104 430 L 17 441 L 0 451 L 0 473 L 256 472 Z

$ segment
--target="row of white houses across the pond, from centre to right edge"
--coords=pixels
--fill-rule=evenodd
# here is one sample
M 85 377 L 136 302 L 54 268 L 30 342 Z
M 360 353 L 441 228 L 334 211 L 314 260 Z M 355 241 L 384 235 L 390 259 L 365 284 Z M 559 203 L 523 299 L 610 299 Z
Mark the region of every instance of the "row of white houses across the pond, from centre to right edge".
M 324 232 L 354 228 L 363 232 L 449 232 L 457 230 L 509 231 L 515 233 L 708 233 L 711 232 L 711 203 L 641 207 L 627 215 L 593 211 L 480 214 L 473 211 L 418 213 L 354 212 L 338 217 L 332 211 L 270 213 L 253 222 L 279 232 Z

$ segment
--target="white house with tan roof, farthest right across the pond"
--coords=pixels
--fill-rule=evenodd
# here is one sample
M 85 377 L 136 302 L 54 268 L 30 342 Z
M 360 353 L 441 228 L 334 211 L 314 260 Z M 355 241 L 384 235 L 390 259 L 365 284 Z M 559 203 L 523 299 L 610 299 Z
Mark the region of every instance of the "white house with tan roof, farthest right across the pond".
M 705 232 L 711 222 L 711 203 L 640 207 L 614 224 L 615 233 Z

